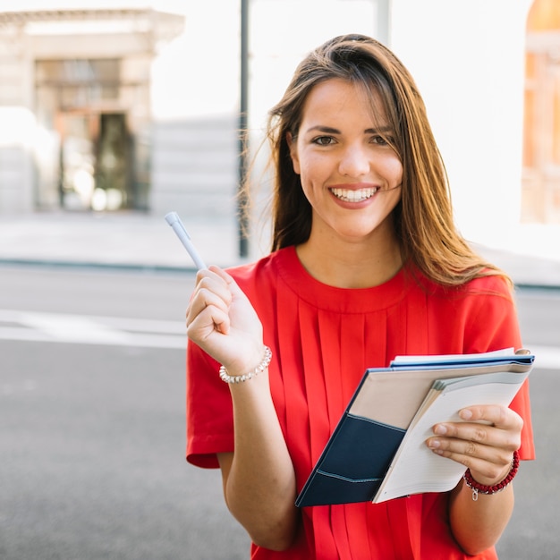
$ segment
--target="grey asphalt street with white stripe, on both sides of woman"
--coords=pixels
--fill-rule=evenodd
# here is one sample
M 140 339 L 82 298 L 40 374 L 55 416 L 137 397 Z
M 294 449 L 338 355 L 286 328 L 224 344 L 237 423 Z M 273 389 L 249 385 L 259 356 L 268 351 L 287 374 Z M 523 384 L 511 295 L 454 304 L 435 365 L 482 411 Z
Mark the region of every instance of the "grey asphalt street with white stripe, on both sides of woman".
M 192 275 L 0 267 L 0 558 L 237 560 L 217 471 L 184 460 Z M 538 461 L 498 551 L 557 558 L 560 291 L 518 293 Z M 534 345 L 534 348 L 532 347 Z M 357 559 L 359 560 L 359 559 Z

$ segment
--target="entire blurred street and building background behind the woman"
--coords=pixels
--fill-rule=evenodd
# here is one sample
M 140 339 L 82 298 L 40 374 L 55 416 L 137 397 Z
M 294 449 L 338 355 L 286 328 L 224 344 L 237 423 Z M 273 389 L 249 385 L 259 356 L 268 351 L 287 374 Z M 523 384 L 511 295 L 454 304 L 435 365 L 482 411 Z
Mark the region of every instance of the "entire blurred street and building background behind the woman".
M 0 0 L 0 558 L 248 557 L 184 462 L 194 271 L 163 216 L 208 263 L 265 253 L 266 151 L 241 233 L 241 148 L 347 32 L 410 69 L 457 225 L 516 284 L 538 461 L 500 552 L 557 557 L 560 2 Z

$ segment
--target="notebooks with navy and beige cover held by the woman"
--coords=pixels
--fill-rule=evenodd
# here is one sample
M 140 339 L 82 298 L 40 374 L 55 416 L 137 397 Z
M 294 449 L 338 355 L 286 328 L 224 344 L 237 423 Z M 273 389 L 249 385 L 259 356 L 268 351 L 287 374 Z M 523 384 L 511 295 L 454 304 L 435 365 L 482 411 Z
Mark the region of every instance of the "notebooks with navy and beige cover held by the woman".
M 296 500 L 298 506 L 384 502 L 453 489 L 464 466 L 426 446 L 435 424 L 460 421 L 477 404 L 509 405 L 534 356 L 481 354 L 397 357 L 368 369 Z

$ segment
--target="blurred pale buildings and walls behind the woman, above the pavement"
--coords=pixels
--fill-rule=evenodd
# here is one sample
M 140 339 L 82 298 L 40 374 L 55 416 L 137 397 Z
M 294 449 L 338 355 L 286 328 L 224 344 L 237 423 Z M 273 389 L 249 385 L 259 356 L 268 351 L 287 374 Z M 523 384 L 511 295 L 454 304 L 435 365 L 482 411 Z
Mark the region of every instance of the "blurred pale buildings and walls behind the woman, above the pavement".
M 559 8 L 510 4 L 0 2 L 0 216 L 234 215 L 240 128 L 254 152 L 301 57 L 361 32 L 418 81 L 464 235 L 548 256 L 560 225 Z

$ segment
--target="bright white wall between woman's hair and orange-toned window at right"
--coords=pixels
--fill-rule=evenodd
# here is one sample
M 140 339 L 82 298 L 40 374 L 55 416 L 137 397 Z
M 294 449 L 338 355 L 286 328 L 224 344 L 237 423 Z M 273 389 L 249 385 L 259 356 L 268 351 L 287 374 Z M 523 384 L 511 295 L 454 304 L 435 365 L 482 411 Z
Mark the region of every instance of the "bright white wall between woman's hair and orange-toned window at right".
M 428 107 L 457 224 L 474 242 L 517 237 L 525 24 L 531 0 L 393 0 L 391 47 Z

